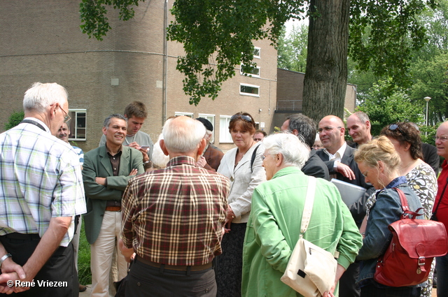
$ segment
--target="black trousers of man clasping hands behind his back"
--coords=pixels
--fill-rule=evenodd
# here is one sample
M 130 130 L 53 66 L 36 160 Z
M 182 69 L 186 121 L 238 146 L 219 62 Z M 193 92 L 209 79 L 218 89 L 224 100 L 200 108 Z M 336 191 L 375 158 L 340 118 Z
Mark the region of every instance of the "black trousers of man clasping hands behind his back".
M 10 233 L 0 236 L 0 242 L 6 251 L 13 256 L 13 261 L 20 266 L 27 263 L 34 249 L 36 249 L 41 238 L 38 234 Z M 57 283 L 58 287 L 50 287 Z M 48 259 L 47 263 L 34 277 L 35 287 L 28 291 L 13 296 L 30 297 L 75 297 L 79 296 L 78 273 L 76 273 L 73 260 L 73 245 L 71 242 L 67 247 L 59 247 Z

